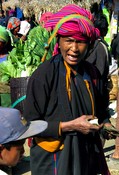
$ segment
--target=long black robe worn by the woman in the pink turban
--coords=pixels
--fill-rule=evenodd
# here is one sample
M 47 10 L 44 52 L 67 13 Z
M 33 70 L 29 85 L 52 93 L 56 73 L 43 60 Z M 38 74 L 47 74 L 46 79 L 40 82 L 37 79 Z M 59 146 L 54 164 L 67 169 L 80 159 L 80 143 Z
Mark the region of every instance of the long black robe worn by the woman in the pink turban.
M 31 76 L 27 88 L 24 117 L 27 120 L 39 119 L 48 122 L 48 128 L 38 137 L 46 140 L 48 137 L 54 139 L 61 137 L 64 142 L 63 150 L 48 152 L 36 145 L 35 140 L 33 141 L 32 175 L 39 175 L 39 173 L 40 175 L 96 175 L 97 173 L 106 175 L 108 168 L 98 133 L 83 135 L 78 132 L 66 132 L 59 136 L 61 121 L 70 121 L 82 114 L 92 114 L 91 99 L 83 80 L 84 72 L 90 77 L 95 115 L 100 118 L 100 122 L 106 119 L 104 118 L 107 117 L 106 109 L 100 108 L 103 103 L 97 105 L 98 99 L 95 99 L 93 88 L 96 87 L 92 81 L 98 77 L 92 70 L 92 64 L 82 61 L 78 74 L 71 76 L 71 101 L 66 90 L 66 68 L 61 55 L 41 64 Z

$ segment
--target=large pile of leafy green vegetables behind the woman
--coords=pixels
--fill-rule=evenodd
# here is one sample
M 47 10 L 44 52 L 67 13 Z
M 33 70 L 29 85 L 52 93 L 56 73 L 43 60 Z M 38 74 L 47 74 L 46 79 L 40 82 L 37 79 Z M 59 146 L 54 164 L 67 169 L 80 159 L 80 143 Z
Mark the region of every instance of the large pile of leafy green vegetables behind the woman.
M 19 40 L 8 54 L 7 61 L 0 64 L 0 82 L 9 82 L 10 78 L 30 76 L 41 64 L 51 33 L 41 26 L 34 27 L 29 32 L 27 40 Z M 46 59 L 52 56 L 56 38 L 53 38 L 48 48 Z

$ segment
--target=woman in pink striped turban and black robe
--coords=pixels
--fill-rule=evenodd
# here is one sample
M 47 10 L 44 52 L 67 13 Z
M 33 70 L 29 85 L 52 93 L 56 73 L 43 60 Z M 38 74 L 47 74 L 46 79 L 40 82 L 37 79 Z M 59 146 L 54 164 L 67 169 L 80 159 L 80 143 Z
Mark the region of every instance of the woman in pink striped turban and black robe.
M 24 111 L 28 121 L 48 122 L 47 130 L 33 139 L 32 175 L 109 175 L 99 137 L 102 125 L 111 125 L 109 114 L 99 99 L 96 70 L 85 62 L 90 43 L 99 35 L 93 16 L 67 5 L 45 27 L 53 30 L 48 44 L 54 36 L 57 44 L 54 56 L 29 80 Z M 95 116 L 99 125 L 90 123 Z

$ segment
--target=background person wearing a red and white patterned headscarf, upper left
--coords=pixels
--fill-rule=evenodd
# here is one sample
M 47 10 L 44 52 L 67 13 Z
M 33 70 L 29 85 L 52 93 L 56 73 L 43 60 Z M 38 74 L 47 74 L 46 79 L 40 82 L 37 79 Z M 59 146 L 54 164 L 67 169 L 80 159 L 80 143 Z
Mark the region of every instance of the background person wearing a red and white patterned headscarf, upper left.
M 18 32 L 20 30 L 20 24 L 20 19 L 16 17 L 11 17 L 8 20 L 7 29 L 11 32 L 12 45 L 14 45 L 19 40 Z

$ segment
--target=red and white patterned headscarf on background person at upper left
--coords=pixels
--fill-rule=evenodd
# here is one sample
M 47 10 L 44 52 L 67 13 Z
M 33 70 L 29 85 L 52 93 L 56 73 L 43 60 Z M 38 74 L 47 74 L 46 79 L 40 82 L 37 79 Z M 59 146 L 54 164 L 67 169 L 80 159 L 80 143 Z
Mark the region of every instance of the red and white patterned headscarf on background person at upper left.
M 13 30 L 14 28 L 20 26 L 20 19 L 19 18 L 16 18 L 16 17 L 11 17 L 8 21 L 8 24 L 7 24 L 7 29 L 8 30 Z

